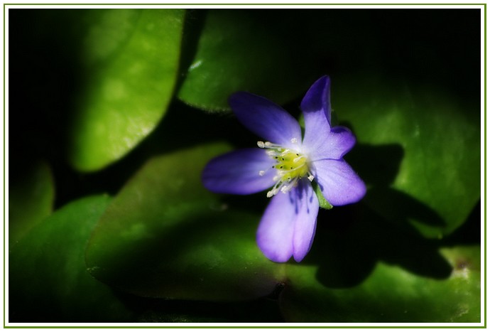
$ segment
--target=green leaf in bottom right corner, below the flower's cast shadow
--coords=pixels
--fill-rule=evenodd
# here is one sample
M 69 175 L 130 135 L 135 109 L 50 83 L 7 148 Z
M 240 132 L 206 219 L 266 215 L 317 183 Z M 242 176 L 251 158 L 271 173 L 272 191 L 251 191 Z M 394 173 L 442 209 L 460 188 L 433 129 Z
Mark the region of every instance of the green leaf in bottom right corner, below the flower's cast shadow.
M 356 287 L 334 289 L 317 281 L 317 267 L 288 265 L 289 282 L 280 305 L 292 322 L 420 322 L 480 321 L 480 247 L 441 250 L 454 270 L 451 277 L 418 277 L 400 267 L 379 263 Z M 335 273 L 334 270 L 331 271 Z

